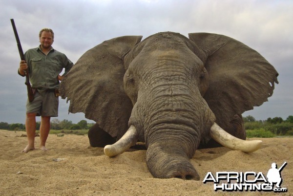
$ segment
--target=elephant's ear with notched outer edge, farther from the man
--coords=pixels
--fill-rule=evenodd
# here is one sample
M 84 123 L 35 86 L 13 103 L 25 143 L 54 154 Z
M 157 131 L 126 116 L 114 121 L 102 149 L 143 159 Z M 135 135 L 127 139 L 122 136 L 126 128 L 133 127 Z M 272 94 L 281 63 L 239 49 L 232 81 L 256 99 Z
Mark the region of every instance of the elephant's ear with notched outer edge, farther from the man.
M 189 39 L 206 54 L 202 61 L 209 88 L 204 98 L 223 128 L 234 115 L 241 116 L 272 96 L 278 73 L 258 52 L 223 35 L 191 33 Z

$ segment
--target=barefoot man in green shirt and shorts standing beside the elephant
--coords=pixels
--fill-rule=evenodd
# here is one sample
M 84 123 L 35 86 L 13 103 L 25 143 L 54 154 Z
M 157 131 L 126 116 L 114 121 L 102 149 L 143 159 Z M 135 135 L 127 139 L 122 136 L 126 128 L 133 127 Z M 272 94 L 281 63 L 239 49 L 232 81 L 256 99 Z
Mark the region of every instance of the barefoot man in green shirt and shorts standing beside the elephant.
M 59 81 L 73 66 L 63 53 L 51 46 L 54 42 L 54 32 L 51 29 L 42 29 L 39 39 L 39 47 L 25 52 L 26 61 L 21 61 L 18 70 L 23 77 L 25 71 L 28 71 L 30 83 L 37 89 L 35 99 L 26 103 L 25 130 L 28 144 L 22 152 L 35 149 L 36 116 L 41 116 L 40 149 L 47 151 L 45 143 L 50 131 L 50 118 L 58 116 L 59 98 L 55 90 L 59 87 Z M 63 68 L 65 72 L 61 76 L 59 74 Z

